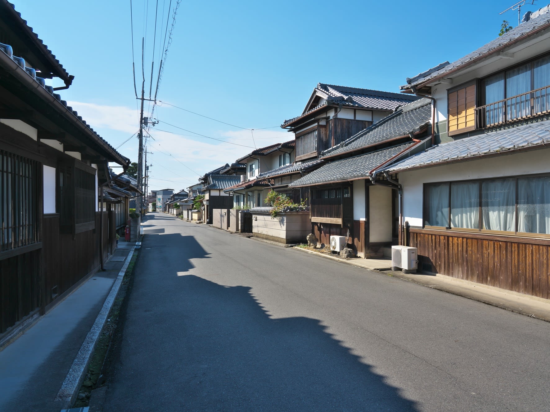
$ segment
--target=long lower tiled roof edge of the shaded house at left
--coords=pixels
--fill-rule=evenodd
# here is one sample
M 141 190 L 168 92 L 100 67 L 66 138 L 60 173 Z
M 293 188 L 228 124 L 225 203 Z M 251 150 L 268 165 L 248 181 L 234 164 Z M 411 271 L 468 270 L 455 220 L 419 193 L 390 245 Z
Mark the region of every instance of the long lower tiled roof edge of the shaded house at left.
M 61 96 L 59 96 L 59 94 L 57 93 L 54 93 L 53 92 L 53 87 L 52 86 L 46 86 L 46 80 L 45 79 L 42 79 L 42 77 L 38 77 L 36 76 L 36 71 L 34 69 L 31 69 L 31 68 L 27 68 L 25 66 L 25 59 L 23 58 L 20 58 L 20 57 L 17 57 L 17 56 L 14 56 L 13 55 L 13 51 L 12 51 L 12 48 L 8 45 L 8 44 L 0 44 L 0 53 L 3 53 L 5 54 L 5 56 L 8 57 L 8 59 L 11 59 L 13 60 L 13 62 L 15 62 L 17 64 L 16 66 L 16 69 L 17 71 L 19 71 L 21 74 L 25 73 L 29 79 L 29 82 L 33 82 L 32 84 L 36 83 L 36 86 L 35 86 L 35 92 L 37 92 L 38 90 L 40 89 L 43 89 L 45 90 L 47 93 L 51 94 L 51 96 L 53 96 L 54 100 L 53 100 L 53 105 L 61 105 L 63 108 L 66 108 L 73 116 L 74 116 L 74 121 L 78 121 L 79 123 L 83 124 L 84 126 L 86 126 L 87 129 L 90 130 L 91 133 L 93 133 L 94 137 L 96 140 L 98 141 L 101 141 L 105 146 L 108 147 L 108 152 L 111 152 L 111 155 L 115 155 L 116 157 L 119 158 L 120 161 L 122 161 L 123 163 L 125 164 L 130 164 L 130 159 L 128 159 L 127 157 L 123 156 L 122 154 L 118 153 L 116 151 L 116 149 L 114 149 L 114 147 L 111 146 L 111 144 L 109 144 L 105 139 L 103 139 L 100 135 L 98 135 L 94 129 L 92 129 L 90 127 L 89 124 L 86 123 L 85 120 L 83 120 L 83 118 L 81 116 L 78 115 L 78 113 L 76 112 L 76 110 L 73 110 L 72 107 L 68 106 L 67 105 L 67 102 L 65 102 L 64 100 L 61 99 Z M 9 60 L 8 60 L 9 62 Z M 57 101 L 57 103 L 56 103 Z M 64 111 L 64 109 L 62 109 Z M 118 162 L 117 162 L 118 163 Z M 121 163 L 121 164 L 123 164 Z

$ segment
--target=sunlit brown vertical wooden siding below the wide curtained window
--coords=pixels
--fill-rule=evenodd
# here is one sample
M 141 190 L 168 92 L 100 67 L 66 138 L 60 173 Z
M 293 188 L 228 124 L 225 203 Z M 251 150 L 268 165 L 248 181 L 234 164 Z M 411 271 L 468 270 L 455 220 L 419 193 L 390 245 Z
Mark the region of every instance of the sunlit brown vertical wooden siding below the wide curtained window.
M 550 246 L 410 229 L 419 269 L 550 299 Z

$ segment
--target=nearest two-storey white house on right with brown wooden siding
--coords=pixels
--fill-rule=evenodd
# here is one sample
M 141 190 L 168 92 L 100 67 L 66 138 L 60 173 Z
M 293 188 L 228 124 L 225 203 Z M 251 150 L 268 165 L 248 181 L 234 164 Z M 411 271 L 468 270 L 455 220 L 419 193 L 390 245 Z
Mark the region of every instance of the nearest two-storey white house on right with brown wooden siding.
M 398 174 L 420 269 L 550 298 L 550 6 L 406 80 L 433 99 L 434 146 Z

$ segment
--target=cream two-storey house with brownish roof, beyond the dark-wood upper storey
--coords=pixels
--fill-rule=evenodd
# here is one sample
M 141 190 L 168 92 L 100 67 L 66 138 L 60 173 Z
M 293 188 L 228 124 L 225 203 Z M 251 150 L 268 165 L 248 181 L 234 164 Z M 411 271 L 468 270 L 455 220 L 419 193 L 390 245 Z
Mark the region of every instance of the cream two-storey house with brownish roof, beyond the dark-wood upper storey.
M 246 175 L 241 175 L 236 185 L 224 191 L 233 195 L 235 206 L 241 208 L 265 206 L 264 199 L 267 192 L 275 184 L 274 179 L 267 177 L 266 174 L 275 169 L 288 169 L 294 163 L 294 143 L 294 140 L 291 140 L 270 144 L 237 159 L 238 164 L 246 166 Z

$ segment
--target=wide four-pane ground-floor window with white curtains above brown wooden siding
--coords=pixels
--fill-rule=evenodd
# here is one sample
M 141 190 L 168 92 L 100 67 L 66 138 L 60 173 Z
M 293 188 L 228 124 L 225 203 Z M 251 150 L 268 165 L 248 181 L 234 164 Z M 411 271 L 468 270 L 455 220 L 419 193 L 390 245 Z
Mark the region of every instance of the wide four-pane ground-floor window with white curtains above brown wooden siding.
M 550 235 L 550 176 L 424 186 L 424 225 Z

